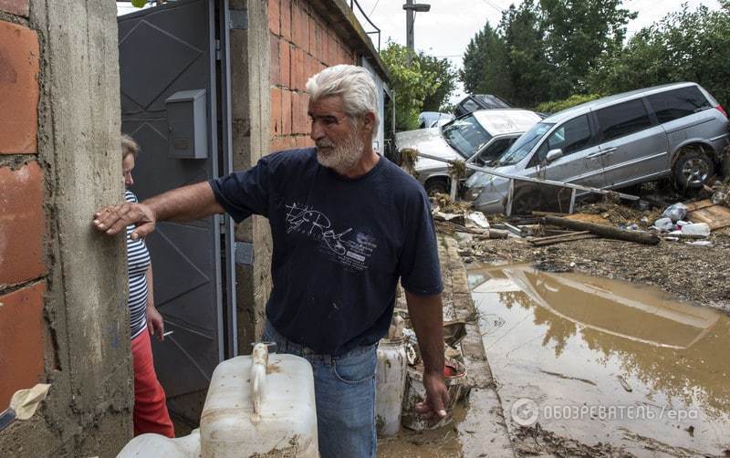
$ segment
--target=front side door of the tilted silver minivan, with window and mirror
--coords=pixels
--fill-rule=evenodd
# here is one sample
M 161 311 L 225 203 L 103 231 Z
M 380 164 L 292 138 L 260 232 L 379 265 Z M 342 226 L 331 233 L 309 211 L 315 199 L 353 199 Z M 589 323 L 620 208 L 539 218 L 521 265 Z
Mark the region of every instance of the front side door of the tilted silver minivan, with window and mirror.
M 562 157 L 547 162 L 547 153 L 563 151 Z M 600 147 L 588 114 L 558 125 L 537 148 L 530 159 L 529 176 L 595 186 L 602 181 Z

